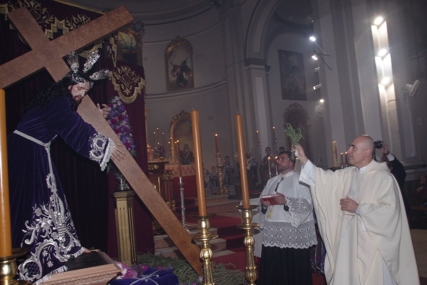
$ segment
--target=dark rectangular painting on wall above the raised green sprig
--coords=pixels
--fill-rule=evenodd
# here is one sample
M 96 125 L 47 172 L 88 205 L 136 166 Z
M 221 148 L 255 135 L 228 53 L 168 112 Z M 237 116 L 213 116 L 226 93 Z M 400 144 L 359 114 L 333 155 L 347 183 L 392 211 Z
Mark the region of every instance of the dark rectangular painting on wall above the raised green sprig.
M 282 99 L 307 100 L 302 53 L 279 50 Z

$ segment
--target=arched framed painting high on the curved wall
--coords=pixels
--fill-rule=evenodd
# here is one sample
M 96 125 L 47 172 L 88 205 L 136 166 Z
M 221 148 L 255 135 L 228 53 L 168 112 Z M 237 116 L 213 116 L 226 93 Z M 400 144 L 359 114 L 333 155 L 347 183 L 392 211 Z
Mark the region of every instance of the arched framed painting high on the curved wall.
M 193 47 L 189 41 L 177 36 L 164 50 L 164 59 L 168 92 L 194 88 Z

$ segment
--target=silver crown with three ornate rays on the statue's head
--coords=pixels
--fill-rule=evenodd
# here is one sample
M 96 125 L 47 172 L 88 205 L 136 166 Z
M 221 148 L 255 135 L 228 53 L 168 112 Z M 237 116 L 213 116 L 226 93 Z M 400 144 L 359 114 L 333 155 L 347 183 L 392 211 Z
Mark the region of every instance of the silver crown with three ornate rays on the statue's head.
M 95 62 L 97 62 L 99 58 L 98 50 L 94 50 L 91 52 L 88 56 L 88 59 L 86 60 L 85 64 L 83 65 L 83 73 L 87 73 L 92 66 L 94 66 Z M 94 82 L 88 81 L 80 76 L 78 76 L 76 73 L 79 72 L 79 56 L 75 51 L 71 51 L 68 53 L 67 56 L 67 62 L 70 66 L 71 71 L 68 71 L 65 76 L 69 77 L 71 80 L 77 83 L 83 83 L 83 82 L 89 82 L 90 87 L 94 85 Z M 110 71 L 105 68 L 101 69 L 100 71 L 97 71 L 93 73 L 91 76 L 89 76 L 92 80 L 99 80 L 99 79 L 105 79 L 108 78 Z

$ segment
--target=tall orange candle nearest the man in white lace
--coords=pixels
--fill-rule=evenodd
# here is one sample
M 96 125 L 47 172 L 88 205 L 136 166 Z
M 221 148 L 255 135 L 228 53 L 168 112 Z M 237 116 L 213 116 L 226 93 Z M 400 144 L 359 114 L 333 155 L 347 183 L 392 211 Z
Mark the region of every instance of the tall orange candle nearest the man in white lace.
M 237 148 L 239 151 L 240 184 L 242 187 L 243 207 L 249 208 L 248 174 L 246 173 L 245 141 L 243 140 L 242 115 L 236 115 Z

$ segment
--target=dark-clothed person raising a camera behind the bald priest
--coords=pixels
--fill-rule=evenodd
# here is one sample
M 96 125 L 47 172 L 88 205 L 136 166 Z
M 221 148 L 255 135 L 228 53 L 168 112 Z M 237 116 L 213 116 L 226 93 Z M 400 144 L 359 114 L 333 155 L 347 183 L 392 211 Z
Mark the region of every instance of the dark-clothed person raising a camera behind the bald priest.
M 403 203 L 405 206 L 406 214 L 409 215 L 409 212 L 411 210 L 408 199 L 406 197 L 406 194 L 404 193 L 403 186 L 405 185 L 405 178 L 406 178 L 406 172 L 398 159 L 392 155 L 392 153 L 389 152 L 387 149 L 387 144 L 383 141 L 375 141 L 375 147 L 383 153 L 383 157 L 381 157 L 381 162 L 386 162 L 387 166 L 389 167 L 390 172 L 395 176 L 399 188 L 401 190 Z

